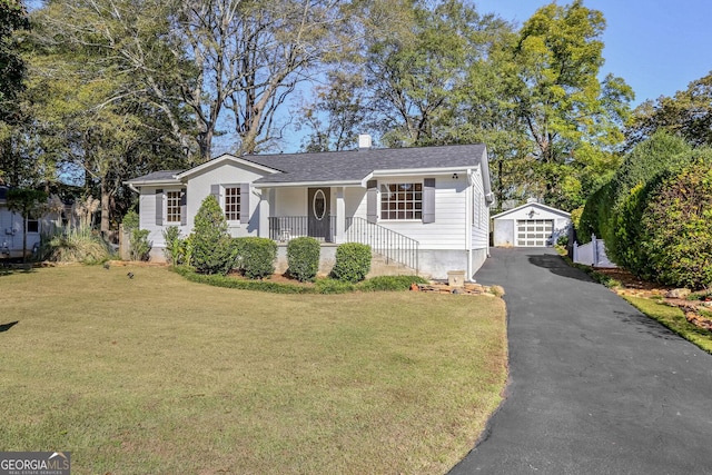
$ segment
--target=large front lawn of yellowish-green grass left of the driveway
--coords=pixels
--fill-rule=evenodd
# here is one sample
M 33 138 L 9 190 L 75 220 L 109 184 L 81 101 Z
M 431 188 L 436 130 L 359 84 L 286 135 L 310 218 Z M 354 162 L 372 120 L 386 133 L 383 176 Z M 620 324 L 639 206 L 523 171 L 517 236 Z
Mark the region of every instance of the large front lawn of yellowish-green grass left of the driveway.
M 494 297 L 276 295 L 100 266 L 0 288 L 0 447 L 71 452 L 76 474 L 444 473 L 507 376 Z

